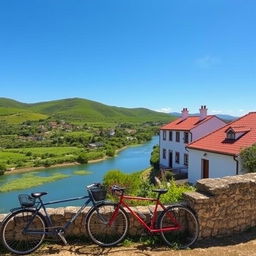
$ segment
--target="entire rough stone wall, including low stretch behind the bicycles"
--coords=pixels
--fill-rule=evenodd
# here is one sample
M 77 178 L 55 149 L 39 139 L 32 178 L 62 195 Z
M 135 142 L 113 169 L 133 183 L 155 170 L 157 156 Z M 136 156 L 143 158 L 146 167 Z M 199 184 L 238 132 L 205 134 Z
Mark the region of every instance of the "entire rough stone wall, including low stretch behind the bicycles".
M 199 238 L 230 235 L 256 225 L 256 174 L 221 179 L 203 179 L 196 192 L 184 194 L 185 202 L 195 211 L 200 225 Z M 77 207 L 49 209 L 55 225 L 63 225 L 77 212 Z M 86 234 L 85 216 L 89 208 L 67 230 L 69 235 Z M 148 207 L 138 207 L 147 222 Z M 151 208 L 152 211 L 152 208 Z M 0 223 L 4 215 L 0 215 Z M 141 235 L 143 228 L 130 216 L 131 235 Z

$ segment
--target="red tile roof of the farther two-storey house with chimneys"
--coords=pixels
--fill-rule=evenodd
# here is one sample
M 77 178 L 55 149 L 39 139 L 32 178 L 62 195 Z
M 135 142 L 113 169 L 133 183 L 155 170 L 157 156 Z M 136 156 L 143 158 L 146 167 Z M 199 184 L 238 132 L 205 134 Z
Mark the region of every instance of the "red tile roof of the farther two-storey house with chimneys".
M 199 116 L 190 116 L 186 118 L 185 120 L 182 120 L 182 118 L 178 118 L 175 121 L 166 124 L 161 127 L 161 130 L 181 130 L 181 131 L 189 131 L 196 126 L 204 123 L 205 121 L 208 121 L 209 119 L 213 118 L 214 115 L 209 115 L 203 120 L 200 120 Z

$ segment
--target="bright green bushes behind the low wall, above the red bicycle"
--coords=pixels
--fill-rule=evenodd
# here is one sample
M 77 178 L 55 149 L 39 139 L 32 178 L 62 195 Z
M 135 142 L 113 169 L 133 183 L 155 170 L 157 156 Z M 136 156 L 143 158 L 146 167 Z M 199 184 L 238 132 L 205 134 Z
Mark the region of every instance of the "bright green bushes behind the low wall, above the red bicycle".
M 126 174 L 119 170 L 112 170 L 105 174 L 103 184 L 106 187 L 112 185 L 119 185 L 126 188 L 126 194 L 142 197 L 156 197 L 156 193 L 152 190 L 159 188 L 150 182 L 150 173 L 153 169 L 148 169 L 141 172 Z M 161 187 L 168 188 L 168 192 L 161 196 L 161 201 L 165 204 L 178 202 L 182 199 L 182 194 L 186 191 L 194 190 L 193 187 L 188 185 L 177 185 L 172 179 L 168 182 L 162 182 Z M 113 197 L 111 199 L 114 199 Z M 133 205 L 148 204 L 145 201 L 129 201 Z

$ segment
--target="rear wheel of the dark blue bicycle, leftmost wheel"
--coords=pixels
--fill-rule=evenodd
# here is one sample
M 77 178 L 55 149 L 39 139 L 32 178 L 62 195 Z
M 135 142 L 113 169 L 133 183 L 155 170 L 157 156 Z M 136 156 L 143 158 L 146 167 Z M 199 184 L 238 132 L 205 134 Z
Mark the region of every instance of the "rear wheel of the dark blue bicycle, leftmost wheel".
M 44 217 L 35 210 L 22 209 L 11 213 L 1 227 L 3 245 L 15 254 L 31 253 L 43 242 L 45 226 Z

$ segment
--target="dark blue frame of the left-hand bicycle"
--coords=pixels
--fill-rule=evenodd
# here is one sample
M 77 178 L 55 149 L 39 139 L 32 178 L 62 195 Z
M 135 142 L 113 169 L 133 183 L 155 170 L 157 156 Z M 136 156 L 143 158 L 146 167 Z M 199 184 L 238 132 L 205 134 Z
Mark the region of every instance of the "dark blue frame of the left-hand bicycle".
M 76 200 L 83 200 L 83 199 L 88 199 L 84 202 L 84 204 L 79 208 L 79 210 L 76 212 L 76 214 L 69 220 L 66 222 L 66 224 L 62 227 L 56 227 L 53 226 L 52 220 L 49 216 L 49 214 L 47 213 L 46 207 L 47 205 L 52 205 L 52 204 L 58 204 L 58 203 L 64 203 L 64 202 L 71 202 L 71 201 L 76 201 Z M 27 226 L 24 228 L 24 231 L 28 234 L 55 234 L 56 233 L 56 229 L 58 230 L 66 230 L 74 221 L 75 219 L 81 214 L 81 212 L 83 211 L 83 209 L 90 203 L 92 202 L 93 207 L 96 205 L 96 203 L 94 202 L 94 200 L 91 198 L 90 195 L 86 195 L 86 196 L 81 196 L 81 197 L 74 197 L 74 198 L 67 198 L 64 200 L 56 200 L 56 201 L 50 201 L 50 202 L 46 202 L 44 203 L 41 199 L 41 197 L 38 198 L 38 202 L 37 202 L 37 206 L 36 206 L 36 211 L 33 214 L 32 219 L 30 220 L 30 222 L 27 224 Z M 43 210 L 44 214 L 45 214 L 45 218 L 47 221 L 47 231 L 39 231 L 39 230 L 29 230 L 29 226 L 30 224 L 33 222 L 34 218 L 36 217 L 36 215 L 39 213 L 40 210 Z M 52 229 L 51 231 L 48 231 L 49 229 Z M 58 230 L 58 231 L 59 231 Z

